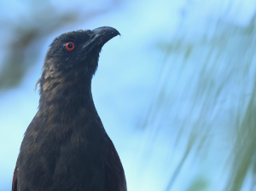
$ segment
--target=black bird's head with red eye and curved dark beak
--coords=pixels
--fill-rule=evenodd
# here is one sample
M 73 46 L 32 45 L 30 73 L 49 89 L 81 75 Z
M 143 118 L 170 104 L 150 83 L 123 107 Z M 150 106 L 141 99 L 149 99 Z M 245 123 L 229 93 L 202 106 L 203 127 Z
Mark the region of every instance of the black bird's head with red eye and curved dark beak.
M 38 80 L 41 90 L 52 90 L 63 83 L 76 84 L 84 78 L 90 80 L 96 72 L 102 46 L 117 35 L 116 29 L 104 26 L 92 31 L 67 32 L 55 38 Z

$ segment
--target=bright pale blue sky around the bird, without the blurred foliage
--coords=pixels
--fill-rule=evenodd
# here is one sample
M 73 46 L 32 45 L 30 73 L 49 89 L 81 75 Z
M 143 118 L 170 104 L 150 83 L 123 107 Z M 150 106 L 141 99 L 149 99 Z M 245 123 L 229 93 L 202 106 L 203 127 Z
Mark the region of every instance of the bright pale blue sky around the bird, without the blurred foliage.
M 61 2 L 55 1 L 53 4 Z M 100 5 L 107 6 L 104 2 L 78 1 L 72 6 L 86 11 Z M 167 144 L 172 139 L 170 130 L 161 130 L 155 136 L 154 128 L 153 131 L 139 129 L 150 102 L 159 90 L 160 65 L 164 61 L 165 52 L 158 48 L 158 43 L 169 43 L 178 33 L 186 33 L 186 31 L 180 32 L 183 27 L 189 31 L 186 37 L 191 38 L 194 33 L 203 31 L 209 18 L 217 20 L 224 17 L 225 20 L 230 20 L 237 25 L 246 26 L 256 3 L 233 1 L 227 14 L 229 3 L 230 1 L 220 0 L 211 0 L 207 3 L 206 1 L 189 3 L 189 1 L 170 0 L 129 1 L 108 14 L 98 16 L 86 23 L 81 19 L 79 23 L 65 26 L 50 34 L 49 38 L 42 43 L 44 51 L 41 52 L 38 63 L 27 72 L 20 86 L 0 94 L 0 151 L 3 154 L 0 158 L 0 191 L 10 189 L 22 136 L 37 112 L 39 96 L 34 92 L 34 87 L 40 77 L 44 54 L 49 43 L 63 32 L 94 29 L 99 26 L 112 26 L 119 30 L 122 36 L 113 38 L 102 49 L 99 67 L 92 82 L 92 95 L 96 109 L 125 167 L 128 189 L 164 190 L 183 150 L 172 148 Z M 2 14 L 11 15 L 14 19 L 18 15 L 15 11 L 26 14 L 26 7 L 22 4 L 15 1 L 4 3 L 6 9 Z M 61 6 L 63 6 L 62 9 L 69 9 L 71 5 L 62 3 Z M 8 9 L 10 11 L 6 11 Z M 184 10 L 189 14 L 187 20 L 182 20 Z M 193 27 L 195 20 L 198 27 Z M 0 58 L 0 61 L 3 59 Z M 183 83 L 188 80 L 189 75 L 183 75 L 180 84 L 171 84 L 171 86 L 182 88 Z M 176 90 L 183 91 L 178 88 Z M 148 144 L 150 139 L 155 140 Z M 166 156 L 172 153 L 175 154 L 170 162 Z M 195 176 L 193 167 L 191 168 L 193 163 L 195 163 L 194 168 L 199 165 L 198 161 L 191 159 L 183 168 L 183 171 L 189 169 L 188 180 L 192 180 Z M 204 172 L 205 174 L 201 173 L 199 177 L 218 179 L 216 171 L 211 172 L 211 175 Z M 180 178 L 173 190 L 185 190 L 187 187 L 188 183 L 184 183 Z

